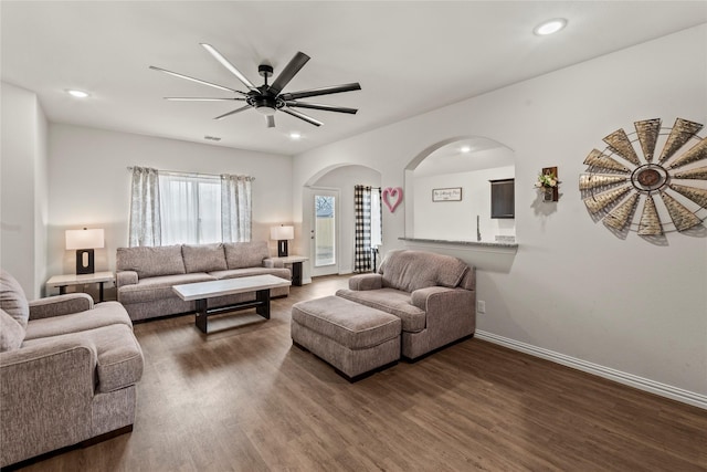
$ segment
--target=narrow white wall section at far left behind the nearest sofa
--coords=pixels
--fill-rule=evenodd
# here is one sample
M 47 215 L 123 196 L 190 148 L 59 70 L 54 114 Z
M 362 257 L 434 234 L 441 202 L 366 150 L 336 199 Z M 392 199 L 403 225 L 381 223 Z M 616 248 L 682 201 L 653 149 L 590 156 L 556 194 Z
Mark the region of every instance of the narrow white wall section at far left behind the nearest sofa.
M 1 88 L 0 263 L 32 300 L 46 281 L 46 118 L 34 93 Z

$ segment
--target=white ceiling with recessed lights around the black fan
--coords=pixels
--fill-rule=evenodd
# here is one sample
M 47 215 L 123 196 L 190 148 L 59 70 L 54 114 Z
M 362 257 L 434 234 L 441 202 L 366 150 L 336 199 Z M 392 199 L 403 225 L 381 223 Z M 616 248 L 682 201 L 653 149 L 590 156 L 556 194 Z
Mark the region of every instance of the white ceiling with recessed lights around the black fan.
M 707 22 L 706 1 L 6 1 L 2 81 L 35 92 L 53 123 L 294 155 L 508 84 Z M 569 24 L 552 36 L 532 29 Z M 229 96 L 149 65 L 244 90 L 199 43 L 210 43 L 256 85 L 297 51 L 312 60 L 285 92 L 359 82 L 362 90 L 303 101 L 359 108 L 305 111 L 317 128 L 278 112 L 222 120 Z M 656 66 L 659 66 L 656 64 Z M 77 101 L 66 88 L 82 88 Z M 293 141 L 291 132 L 303 138 Z

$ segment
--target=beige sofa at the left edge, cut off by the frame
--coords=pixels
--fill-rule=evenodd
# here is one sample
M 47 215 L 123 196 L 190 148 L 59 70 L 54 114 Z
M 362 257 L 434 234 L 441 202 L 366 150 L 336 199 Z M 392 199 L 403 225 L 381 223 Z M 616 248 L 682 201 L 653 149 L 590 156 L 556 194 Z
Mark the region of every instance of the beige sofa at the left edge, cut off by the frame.
M 28 302 L 2 271 L 0 305 L 1 468 L 133 429 L 144 359 L 119 303 Z

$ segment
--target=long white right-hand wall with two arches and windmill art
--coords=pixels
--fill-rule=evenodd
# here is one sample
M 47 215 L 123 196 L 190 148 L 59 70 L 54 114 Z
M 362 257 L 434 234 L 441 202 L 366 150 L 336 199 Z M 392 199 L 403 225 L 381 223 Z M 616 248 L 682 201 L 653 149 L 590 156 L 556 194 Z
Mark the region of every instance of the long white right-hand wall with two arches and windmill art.
M 504 143 L 516 155 L 519 250 L 505 271 L 478 268 L 487 310 L 478 329 L 695 394 L 707 407 L 707 238 L 619 239 L 590 218 L 578 189 L 584 158 L 615 129 L 654 117 L 707 123 L 706 83 L 700 25 L 295 156 L 294 214 L 304 182 L 337 162 L 358 161 L 398 187 L 435 143 Z M 548 204 L 534 183 L 550 166 L 562 183 Z M 403 213 L 383 211 L 387 250 L 403 247 Z

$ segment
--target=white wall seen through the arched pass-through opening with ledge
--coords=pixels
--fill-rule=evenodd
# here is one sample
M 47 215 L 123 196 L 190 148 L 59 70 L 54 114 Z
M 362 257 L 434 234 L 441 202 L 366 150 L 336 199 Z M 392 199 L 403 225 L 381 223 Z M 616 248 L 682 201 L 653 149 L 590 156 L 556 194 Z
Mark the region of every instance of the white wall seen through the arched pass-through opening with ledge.
M 515 166 L 471 172 L 415 177 L 414 238 L 476 241 L 476 217 L 482 241 L 495 241 L 496 235 L 515 235 L 515 219 L 490 218 L 489 180 L 511 179 Z M 436 188 L 461 187 L 461 201 L 432 201 Z

